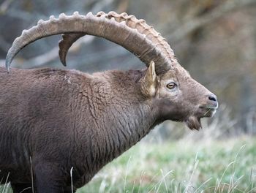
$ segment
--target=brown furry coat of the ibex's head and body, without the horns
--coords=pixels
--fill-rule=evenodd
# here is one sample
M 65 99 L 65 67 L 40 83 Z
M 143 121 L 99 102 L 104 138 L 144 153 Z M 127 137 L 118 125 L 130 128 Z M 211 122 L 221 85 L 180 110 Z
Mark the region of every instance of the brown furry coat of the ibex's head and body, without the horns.
M 31 187 L 31 167 L 39 193 L 69 192 L 72 167 L 77 189 L 155 125 L 169 119 L 199 129 L 217 107 L 181 66 L 159 76 L 154 64 L 94 75 L 0 68 L 0 88 L 0 178 L 14 192 Z

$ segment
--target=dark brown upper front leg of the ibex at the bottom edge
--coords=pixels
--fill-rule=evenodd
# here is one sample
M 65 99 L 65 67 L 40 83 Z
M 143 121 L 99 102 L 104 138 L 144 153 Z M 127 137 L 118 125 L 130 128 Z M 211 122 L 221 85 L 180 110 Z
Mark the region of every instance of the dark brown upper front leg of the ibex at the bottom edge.
M 66 178 L 58 164 L 40 162 L 34 167 L 35 184 L 38 193 L 63 193 Z

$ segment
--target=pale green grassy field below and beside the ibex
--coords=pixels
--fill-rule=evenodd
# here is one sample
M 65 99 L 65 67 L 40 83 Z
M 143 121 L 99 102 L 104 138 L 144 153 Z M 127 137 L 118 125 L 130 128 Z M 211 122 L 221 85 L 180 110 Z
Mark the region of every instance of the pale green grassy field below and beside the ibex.
M 140 142 L 78 192 L 256 192 L 255 160 L 251 137 Z

